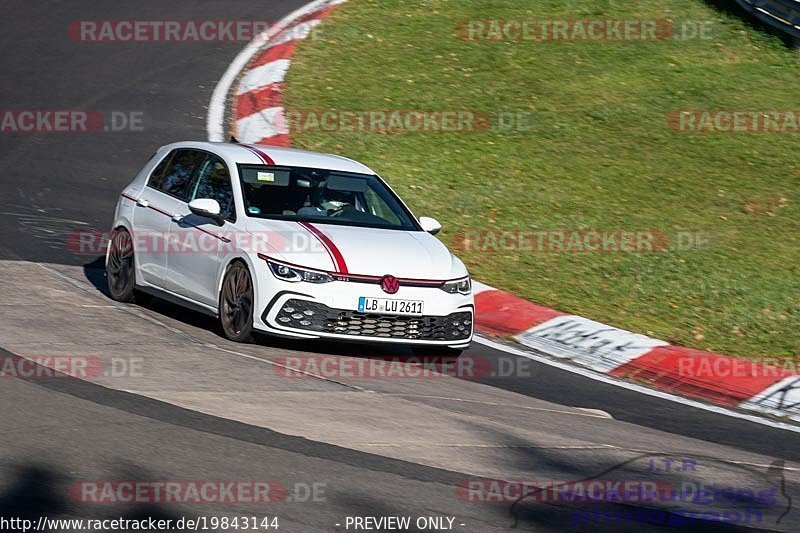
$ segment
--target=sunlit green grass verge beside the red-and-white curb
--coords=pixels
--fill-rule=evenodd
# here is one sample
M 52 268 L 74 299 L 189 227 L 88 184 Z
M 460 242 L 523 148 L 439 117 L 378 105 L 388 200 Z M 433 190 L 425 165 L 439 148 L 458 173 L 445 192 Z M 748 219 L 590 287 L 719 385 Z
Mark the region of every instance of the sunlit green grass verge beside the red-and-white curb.
M 591 4 L 591 5 L 587 5 Z M 709 21 L 710 40 L 488 42 L 464 19 Z M 442 239 L 461 231 L 709 232 L 664 253 L 466 252 L 472 274 L 534 302 L 677 344 L 800 353 L 800 134 L 671 131 L 678 109 L 799 108 L 800 56 L 702 0 L 351 0 L 301 44 L 289 109 L 535 113 L 500 133 L 295 132 L 385 176 Z

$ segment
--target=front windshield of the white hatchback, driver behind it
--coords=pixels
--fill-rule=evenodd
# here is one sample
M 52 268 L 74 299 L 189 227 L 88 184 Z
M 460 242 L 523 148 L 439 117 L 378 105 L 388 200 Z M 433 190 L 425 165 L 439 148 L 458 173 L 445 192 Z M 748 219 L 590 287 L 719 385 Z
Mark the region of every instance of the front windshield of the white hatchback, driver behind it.
M 419 230 L 377 176 L 318 168 L 239 165 L 250 217 Z

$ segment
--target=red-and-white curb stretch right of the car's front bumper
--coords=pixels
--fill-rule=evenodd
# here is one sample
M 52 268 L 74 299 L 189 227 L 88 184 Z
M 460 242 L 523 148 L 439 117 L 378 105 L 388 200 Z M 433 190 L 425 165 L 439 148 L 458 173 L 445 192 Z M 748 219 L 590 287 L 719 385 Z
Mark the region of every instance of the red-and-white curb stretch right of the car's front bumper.
M 670 345 L 475 284 L 475 329 L 539 353 L 659 390 L 800 421 L 800 375 Z

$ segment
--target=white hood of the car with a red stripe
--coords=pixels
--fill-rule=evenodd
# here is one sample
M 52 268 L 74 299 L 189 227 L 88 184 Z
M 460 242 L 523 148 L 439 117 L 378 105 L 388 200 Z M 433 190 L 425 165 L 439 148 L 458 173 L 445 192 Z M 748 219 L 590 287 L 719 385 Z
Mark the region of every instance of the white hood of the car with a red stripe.
M 298 266 L 348 274 L 454 279 L 460 260 L 424 231 L 251 219 L 248 231 L 267 241 L 267 255 Z

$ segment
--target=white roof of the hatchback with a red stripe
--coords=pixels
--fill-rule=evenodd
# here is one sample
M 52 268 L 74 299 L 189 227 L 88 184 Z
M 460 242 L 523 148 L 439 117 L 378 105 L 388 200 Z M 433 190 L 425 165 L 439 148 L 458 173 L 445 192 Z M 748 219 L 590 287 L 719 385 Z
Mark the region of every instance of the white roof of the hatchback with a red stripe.
M 322 168 L 328 170 L 338 170 L 341 172 L 357 172 L 360 174 L 375 174 L 375 171 L 362 165 L 358 161 L 353 161 L 346 157 L 310 152 L 307 150 L 296 150 L 294 148 L 282 148 L 279 146 L 266 146 L 260 144 L 240 144 L 223 142 L 204 142 L 204 141 L 181 141 L 166 146 L 164 149 L 175 148 L 198 148 L 214 152 L 224 157 L 228 161 L 237 164 L 250 165 L 281 165 L 289 167 L 309 167 Z

